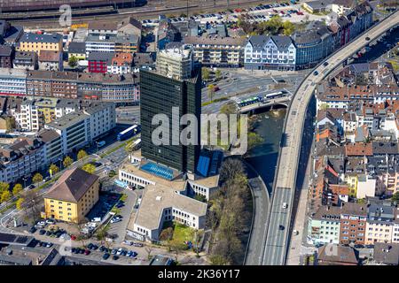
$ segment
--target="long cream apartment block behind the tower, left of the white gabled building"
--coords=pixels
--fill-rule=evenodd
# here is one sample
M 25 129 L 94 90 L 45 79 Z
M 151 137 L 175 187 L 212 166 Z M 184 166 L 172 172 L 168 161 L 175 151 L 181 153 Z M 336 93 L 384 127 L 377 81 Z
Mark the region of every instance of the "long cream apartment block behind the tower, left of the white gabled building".
M 184 37 L 192 44 L 194 57 L 202 65 L 239 67 L 243 64 L 245 39 L 241 37 Z

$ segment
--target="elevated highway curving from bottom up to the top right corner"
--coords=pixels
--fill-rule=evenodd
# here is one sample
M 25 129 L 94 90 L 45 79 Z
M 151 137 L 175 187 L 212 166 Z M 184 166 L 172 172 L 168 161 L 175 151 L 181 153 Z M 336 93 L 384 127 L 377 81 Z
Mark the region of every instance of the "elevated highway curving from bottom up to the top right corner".
M 324 80 L 332 70 L 340 66 L 348 57 L 398 24 L 399 11 L 396 11 L 388 16 L 387 19 L 380 21 L 354 41 L 327 57 L 324 62 L 328 62 L 328 65 L 317 65 L 314 71 L 317 71 L 318 74 L 310 73 L 301 82 L 301 86 L 294 94 L 287 112 L 285 130 L 283 131 L 284 139 L 278 157 L 278 167 L 271 199 L 270 222 L 262 264 L 286 264 L 286 250 L 290 233 L 298 162 L 301 154 L 303 125 L 308 104 L 314 94 L 317 83 Z M 370 39 L 366 40 L 366 37 Z M 284 209 L 282 207 L 283 203 L 288 203 L 288 208 Z M 279 226 L 284 226 L 285 229 L 279 230 Z

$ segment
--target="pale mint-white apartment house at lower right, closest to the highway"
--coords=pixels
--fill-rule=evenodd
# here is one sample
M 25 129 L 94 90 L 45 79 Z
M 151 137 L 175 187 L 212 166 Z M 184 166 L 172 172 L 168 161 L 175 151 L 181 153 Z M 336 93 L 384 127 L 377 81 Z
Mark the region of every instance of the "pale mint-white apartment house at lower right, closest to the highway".
M 308 243 L 340 243 L 340 207 L 323 205 L 309 217 Z

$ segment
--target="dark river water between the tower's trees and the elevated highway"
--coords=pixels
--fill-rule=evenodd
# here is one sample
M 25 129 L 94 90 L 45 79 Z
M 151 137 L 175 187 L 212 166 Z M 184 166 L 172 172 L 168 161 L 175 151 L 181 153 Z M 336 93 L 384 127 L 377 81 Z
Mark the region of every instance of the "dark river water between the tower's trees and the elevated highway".
M 249 152 L 246 161 L 254 166 L 270 191 L 278 161 L 278 148 L 283 131 L 286 109 L 257 114 L 254 131 L 262 136 L 262 144 Z

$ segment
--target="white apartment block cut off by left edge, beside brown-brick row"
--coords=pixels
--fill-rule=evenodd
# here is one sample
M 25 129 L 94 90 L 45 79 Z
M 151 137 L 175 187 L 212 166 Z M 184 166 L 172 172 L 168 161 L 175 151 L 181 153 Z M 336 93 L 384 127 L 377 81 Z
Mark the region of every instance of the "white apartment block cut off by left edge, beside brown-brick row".
M 0 68 L 0 94 L 27 96 L 27 73 L 18 69 Z

